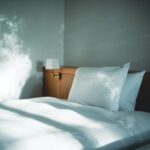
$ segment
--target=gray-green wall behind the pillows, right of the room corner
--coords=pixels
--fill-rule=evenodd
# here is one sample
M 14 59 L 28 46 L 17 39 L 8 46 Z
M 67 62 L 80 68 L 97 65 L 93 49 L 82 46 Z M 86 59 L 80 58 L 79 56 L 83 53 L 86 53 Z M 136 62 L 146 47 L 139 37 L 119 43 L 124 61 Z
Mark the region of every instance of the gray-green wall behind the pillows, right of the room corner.
M 150 70 L 149 0 L 66 0 L 64 63 Z

